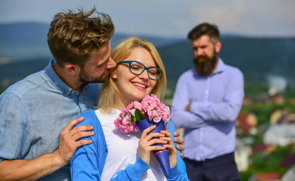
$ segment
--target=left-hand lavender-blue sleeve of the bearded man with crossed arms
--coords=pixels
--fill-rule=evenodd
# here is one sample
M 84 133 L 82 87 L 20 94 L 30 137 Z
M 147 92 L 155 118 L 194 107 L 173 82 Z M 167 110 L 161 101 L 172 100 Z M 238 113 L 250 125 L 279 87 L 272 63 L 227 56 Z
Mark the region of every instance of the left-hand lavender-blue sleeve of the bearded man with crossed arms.
M 207 123 L 195 114 L 185 111 L 185 107 L 190 103 L 186 74 L 182 74 L 176 85 L 176 90 L 173 95 L 171 106 L 171 120 L 176 127 L 183 128 L 200 128 L 207 125 Z

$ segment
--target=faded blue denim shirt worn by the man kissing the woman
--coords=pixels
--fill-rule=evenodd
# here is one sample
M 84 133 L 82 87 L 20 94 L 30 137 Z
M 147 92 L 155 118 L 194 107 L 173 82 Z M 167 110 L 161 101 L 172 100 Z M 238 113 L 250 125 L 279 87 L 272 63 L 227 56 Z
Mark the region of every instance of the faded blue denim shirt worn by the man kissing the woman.
M 54 152 L 65 125 L 92 110 L 100 84 L 85 85 L 81 93 L 68 87 L 50 63 L 0 95 L 0 161 L 32 159 Z M 69 165 L 41 178 L 67 181 Z

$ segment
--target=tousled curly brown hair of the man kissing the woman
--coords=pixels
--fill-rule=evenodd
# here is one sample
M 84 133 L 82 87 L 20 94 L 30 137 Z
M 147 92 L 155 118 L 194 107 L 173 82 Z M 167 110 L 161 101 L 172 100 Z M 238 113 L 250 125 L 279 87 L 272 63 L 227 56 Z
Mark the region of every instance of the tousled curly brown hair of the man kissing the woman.
M 93 14 L 96 16 L 90 17 Z M 76 13 L 67 10 L 54 16 L 47 34 L 49 49 L 60 67 L 64 63 L 83 66 L 91 55 L 97 54 L 108 43 L 115 31 L 111 17 L 82 8 Z

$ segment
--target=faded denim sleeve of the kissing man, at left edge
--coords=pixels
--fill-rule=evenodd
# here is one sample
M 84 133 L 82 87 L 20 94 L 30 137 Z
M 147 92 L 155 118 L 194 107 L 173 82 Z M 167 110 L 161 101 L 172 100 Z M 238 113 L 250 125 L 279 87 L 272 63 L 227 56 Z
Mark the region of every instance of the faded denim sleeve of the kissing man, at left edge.
M 13 93 L 0 95 L 0 162 L 22 159 L 31 145 L 26 104 Z

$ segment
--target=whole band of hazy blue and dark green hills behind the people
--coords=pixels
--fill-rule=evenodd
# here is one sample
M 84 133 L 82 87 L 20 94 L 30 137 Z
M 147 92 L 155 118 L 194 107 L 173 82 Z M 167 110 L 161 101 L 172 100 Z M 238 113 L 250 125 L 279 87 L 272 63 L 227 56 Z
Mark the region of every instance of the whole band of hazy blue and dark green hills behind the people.
M 49 25 L 40 23 L 0 24 L 0 87 L 40 71 L 52 58 L 46 34 Z M 115 33 L 112 44 L 127 34 Z M 188 40 L 139 35 L 157 47 L 166 67 L 168 84 L 174 87 L 179 75 L 192 68 L 193 53 Z M 295 38 L 251 38 L 223 34 L 220 57 L 238 67 L 245 82 L 266 81 L 277 74 L 295 82 Z M 8 59 L 7 59 L 8 58 Z

